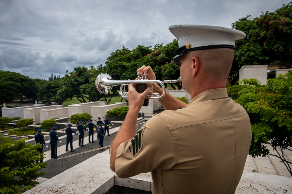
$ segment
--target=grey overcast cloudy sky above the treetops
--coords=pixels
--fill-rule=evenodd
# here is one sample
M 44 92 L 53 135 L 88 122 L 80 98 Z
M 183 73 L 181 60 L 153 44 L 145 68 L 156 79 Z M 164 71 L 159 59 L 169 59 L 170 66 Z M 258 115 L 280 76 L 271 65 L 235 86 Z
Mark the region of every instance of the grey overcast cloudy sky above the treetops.
M 0 70 L 48 80 L 123 46 L 168 44 L 173 24 L 231 28 L 291 0 L 0 0 Z

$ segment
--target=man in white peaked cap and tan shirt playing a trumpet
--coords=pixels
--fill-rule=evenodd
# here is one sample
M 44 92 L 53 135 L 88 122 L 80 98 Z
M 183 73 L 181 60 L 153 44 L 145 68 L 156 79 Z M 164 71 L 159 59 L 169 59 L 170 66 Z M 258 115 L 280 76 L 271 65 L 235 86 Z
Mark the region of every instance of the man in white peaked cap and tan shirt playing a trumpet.
M 117 132 L 110 168 L 120 178 L 152 172 L 152 193 L 232 194 L 242 176 L 251 145 L 251 123 L 245 109 L 227 95 L 235 41 L 245 33 L 220 26 L 173 25 L 178 39 L 182 88 L 191 97 L 185 104 L 169 93 L 159 99 L 165 111 L 155 114 L 136 133 L 140 108 L 147 95 L 163 90 L 147 83 L 144 92 L 128 86 L 129 110 Z M 150 66 L 138 75 L 156 80 Z M 153 135 L 155 134 L 155 135 Z

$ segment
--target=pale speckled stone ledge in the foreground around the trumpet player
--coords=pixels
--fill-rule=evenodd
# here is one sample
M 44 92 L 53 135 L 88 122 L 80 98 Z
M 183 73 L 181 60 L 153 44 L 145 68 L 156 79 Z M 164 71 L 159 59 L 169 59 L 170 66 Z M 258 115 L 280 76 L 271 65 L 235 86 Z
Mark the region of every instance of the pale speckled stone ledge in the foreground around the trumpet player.
M 109 156 L 107 153 L 96 154 L 25 193 L 105 193 L 115 184 L 152 191 L 151 172 L 118 178 L 109 168 Z M 291 183 L 291 177 L 244 171 L 235 193 L 292 193 Z

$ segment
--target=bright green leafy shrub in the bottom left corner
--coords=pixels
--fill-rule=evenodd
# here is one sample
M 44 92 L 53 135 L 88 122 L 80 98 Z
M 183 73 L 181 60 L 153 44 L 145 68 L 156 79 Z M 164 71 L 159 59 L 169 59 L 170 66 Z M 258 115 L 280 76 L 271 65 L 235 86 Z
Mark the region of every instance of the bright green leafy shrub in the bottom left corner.
M 38 184 L 36 179 L 45 174 L 39 172 L 46 163 L 44 154 L 36 151 L 40 144 L 25 144 L 25 140 L 13 141 L 0 136 L 0 193 L 23 193 Z

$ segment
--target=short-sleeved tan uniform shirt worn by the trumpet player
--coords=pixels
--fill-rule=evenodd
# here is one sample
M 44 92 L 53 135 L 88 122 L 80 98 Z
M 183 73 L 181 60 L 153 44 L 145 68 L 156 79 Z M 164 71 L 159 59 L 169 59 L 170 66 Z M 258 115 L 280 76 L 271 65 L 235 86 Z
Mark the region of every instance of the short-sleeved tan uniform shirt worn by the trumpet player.
M 153 193 L 234 193 L 250 145 L 244 108 L 225 88 L 207 90 L 121 143 L 115 171 L 121 178 L 152 171 Z

